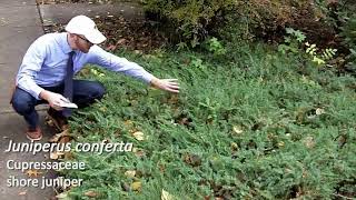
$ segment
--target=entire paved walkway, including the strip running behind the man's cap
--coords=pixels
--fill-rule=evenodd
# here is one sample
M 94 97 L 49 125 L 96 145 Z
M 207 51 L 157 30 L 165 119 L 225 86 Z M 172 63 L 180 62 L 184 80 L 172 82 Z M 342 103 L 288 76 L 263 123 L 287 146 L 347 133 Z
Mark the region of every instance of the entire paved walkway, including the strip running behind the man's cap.
M 73 9 L 75 8 L 75 9 Z M 51 23 L 67 23 L 69 19 L 77 14 L 89 17 L 103 14 L 120 14 L 126 18 L 141 18 L 141 10 L 131 3 L 112 6 L 95 4 L 51 4 L 37 6 L 36 0 L 2 0 L 0 6 L 0 199 L 11 200 L 42 200 L 50 199 L 55 192 L 52 188 L 34 187 L 7 187 L 10 176 L 18 179 L 26 179 L 27 174 L 18 170 L 9 170 L 7 162 L 14 160 L 19 162 L 43 161 L 43 153 L 32 156 L 30 153 L 4 152 L 9 141 L 28 142 L 24 130 L 24 120 L 13 112 L 9 104 L 11 86 L 14 76 L 22 61 L 22 57 L 39 36 L 43 34 L 42 22 L 46 26 Z M 43 19 L 43 20 L 41 20 Z M 43 139 L 47 142 L 53 134 L 43 122 L 43 109 L 40 111 L 41 128 Z M 43 172 L 42 177 L 53 178 L 53 174 Z

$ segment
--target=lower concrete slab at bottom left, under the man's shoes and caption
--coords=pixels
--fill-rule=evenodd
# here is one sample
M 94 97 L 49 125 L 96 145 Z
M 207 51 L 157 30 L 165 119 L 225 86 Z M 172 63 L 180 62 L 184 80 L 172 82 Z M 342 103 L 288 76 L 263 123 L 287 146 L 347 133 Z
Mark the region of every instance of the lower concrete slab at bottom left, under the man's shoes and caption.
M 41 112 L 41 124 L 43 124 L 43 112 Z M 18 117 L 17 113 L 8 113 L 0 116 L 0 128 L 1 131 L 1 140 L 0 140 L 0 199 L 11 199 L 11 200 L 47 200 L 55 196 L 55 191 L 52 188 L 41 189 L 40 187 L 7 187 L 7 181 L 11 176 L 14 176 L 17 179 L 29 179 L 26 171 L 22 172 L 20 170 L 11 170 L 7 168 L 7 162 L 10 160 L 17 162 L 30 162 L 30 161 L 49 161 L 48 153 L 43 152 L 38 153 L 36 156 L 29 152 L 4 152 L 8 149 L 9 141 L 12 140 L 16 143 L 28 143 L 29 140 L 24 137 L 23 130 L 26 129 L 24 122 L 22 119 Z M 7 128 L 6 131 L 3 128 Z M 43 137 L 43 142 L 48 141 L 50 130 L 46 126 L 42 126 L 42 131 L 46 133 Z M 42 177 L 47 179 L 53 179 L 55 173 L 52 171 L 40 171 L 41 174 L 38 176 L 39 182 L 41 182 Z M 34 178 L 34 177 L 33 177 Z M 32 178 L 31 178 L 32 179 Z

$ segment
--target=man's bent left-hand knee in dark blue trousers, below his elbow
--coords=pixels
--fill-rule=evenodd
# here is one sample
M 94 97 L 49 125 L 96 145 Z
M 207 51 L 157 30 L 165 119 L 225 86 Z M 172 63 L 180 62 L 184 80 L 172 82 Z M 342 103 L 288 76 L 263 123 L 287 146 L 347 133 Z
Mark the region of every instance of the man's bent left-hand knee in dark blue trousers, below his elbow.
M 34 109 L 34 102 L 33 97 L 17 88 L 13 96 L 12 96 L 12 108 L 19 113 L 19 114 L 26 114 L 31 112 Z

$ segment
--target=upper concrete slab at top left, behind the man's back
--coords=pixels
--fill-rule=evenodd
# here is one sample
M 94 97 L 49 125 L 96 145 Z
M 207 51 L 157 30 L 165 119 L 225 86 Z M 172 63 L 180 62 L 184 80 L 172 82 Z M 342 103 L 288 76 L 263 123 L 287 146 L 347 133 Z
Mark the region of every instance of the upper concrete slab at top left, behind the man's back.
M 10 82 L 30 43 L 43 33 L 34 0 L 4 0 L 0 7 L 0 112 L 9 106 Z

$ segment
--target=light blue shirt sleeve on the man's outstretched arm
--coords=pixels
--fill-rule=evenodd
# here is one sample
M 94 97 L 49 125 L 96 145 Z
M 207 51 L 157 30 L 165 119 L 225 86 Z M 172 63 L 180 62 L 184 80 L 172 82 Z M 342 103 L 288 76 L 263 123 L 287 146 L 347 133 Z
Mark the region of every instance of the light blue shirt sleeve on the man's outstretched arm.
M 110 71 L 122 72 L 127 76 L 149 83 L 154 76 L 135 62 L 105 51 L 99 46 L 92 46 L 89 51 L 90 63 L 101 66 Z

